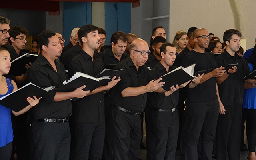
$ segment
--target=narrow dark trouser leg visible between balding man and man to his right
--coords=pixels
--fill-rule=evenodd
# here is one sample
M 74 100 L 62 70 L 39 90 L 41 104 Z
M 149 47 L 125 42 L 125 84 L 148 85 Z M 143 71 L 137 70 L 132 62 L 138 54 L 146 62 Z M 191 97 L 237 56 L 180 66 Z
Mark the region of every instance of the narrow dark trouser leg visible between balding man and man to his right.
M 154 130 L 154 122 L 152 118 L 152 108 L 146 105 L 145 109 L 145 124 L 146 124 L 146 144 L 147 144 L 147 160 L 153 160 L 156 145 L 156 136 Z

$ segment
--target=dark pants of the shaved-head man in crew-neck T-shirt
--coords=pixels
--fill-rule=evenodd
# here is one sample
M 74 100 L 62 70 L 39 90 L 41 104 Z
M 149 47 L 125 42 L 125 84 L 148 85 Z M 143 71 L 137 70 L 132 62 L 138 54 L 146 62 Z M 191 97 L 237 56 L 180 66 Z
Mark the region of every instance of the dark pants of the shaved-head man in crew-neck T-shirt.
M 197 160 L 197 144 L 201 133 L 201 160 L 212 158 L 213 139 L 219 114 L 218 99 L 204 102 L 187 102 L 186 115 L 188 128 L 186 130 L 185 160 Z

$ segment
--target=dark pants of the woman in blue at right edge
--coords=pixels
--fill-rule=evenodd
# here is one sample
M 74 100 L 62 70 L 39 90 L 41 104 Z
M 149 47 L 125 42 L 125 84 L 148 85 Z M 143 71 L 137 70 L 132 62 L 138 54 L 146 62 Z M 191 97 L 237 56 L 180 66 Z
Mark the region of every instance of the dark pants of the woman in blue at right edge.
M 247 123 L 248 124 L 247 130 L 247 140 L 248 140 L 248 149 L 250 152 L 255 152 L 255 145 L 256 145 L 256 109 L 245 109 L 248 115 Z

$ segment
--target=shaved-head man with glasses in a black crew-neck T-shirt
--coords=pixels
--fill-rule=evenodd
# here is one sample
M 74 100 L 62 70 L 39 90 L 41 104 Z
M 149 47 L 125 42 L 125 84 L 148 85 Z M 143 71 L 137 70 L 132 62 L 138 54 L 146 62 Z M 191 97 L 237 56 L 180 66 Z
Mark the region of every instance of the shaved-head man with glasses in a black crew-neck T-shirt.
M 205 52 L 210 42 L 210 35 L 204 28 L 198 28 L 193 33 L 195 47 L 182 60 L 186 67 L 196 63 L 194 72 L 213 68 L 212 72 L 202 76 L 199 83 L 189 84 L 186 100 L 186 148 L 185 160 L 197 160 L 197 144 L 201 134 L 201 159 L 212 158 L 213 139 L 221 104 L 218 96 L 216 77 L 224 74 L 224 67 L 219 67 L 213 54 Z M 199 74 L 198 74 L 199 75 Z M 197 75 L 197 76 L 198 76 Z

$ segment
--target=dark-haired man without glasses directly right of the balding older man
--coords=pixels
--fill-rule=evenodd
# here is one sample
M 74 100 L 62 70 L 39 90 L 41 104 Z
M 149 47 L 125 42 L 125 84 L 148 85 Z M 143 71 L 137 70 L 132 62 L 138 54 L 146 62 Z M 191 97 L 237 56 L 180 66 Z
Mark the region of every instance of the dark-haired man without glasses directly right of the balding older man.
M 155 79 L 177 68 L 172 66 L 176 58 L 176 48 L 173 44 L 164 43 L 160 48 L 160 53 L 162 59 L 151 71 Z M 179 116 L 176 108 L 179 100 L 178 89 L 183 88 L 189 82 L 180 86 L 172 86 L 170 90 L 164 90 L 163 93 L 152 93 L 154 94 L 151 102 L 152 119 L 156 134 L 154 160 L 175 159 L 179 132 Z M 197 79 L 197 82 L 200 82 L 200 79 Z

